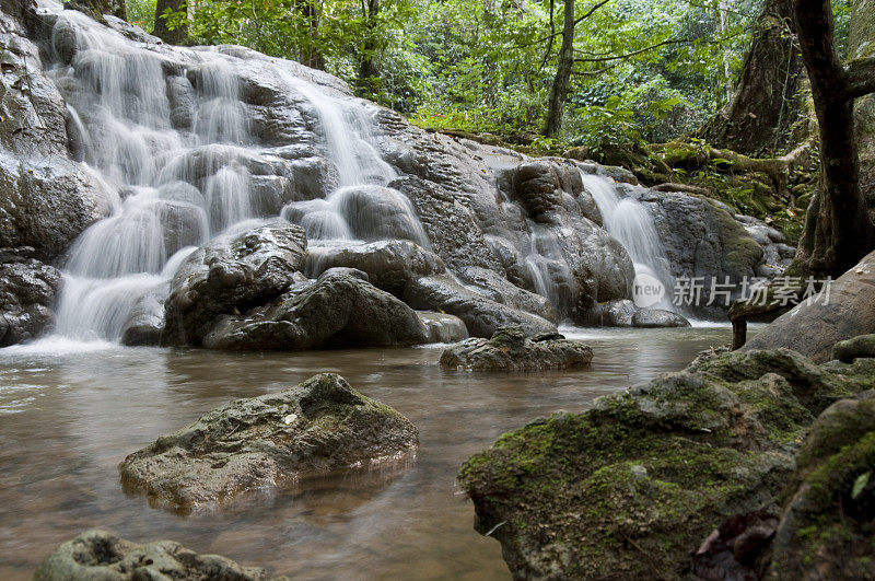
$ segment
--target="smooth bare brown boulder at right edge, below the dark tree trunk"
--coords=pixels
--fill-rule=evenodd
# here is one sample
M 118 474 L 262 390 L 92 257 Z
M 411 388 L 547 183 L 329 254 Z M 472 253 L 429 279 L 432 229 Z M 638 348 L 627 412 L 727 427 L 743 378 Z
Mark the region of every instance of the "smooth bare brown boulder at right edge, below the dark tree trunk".
M 796 305 L 743 349 L 786 347 L 815 361 L 827 361 L 838 341 L 875 333 L 873 292 L 875 253 L 835 280 L 829 287 L 828 300 L 824 290 L 810 304 L 806 301 Z

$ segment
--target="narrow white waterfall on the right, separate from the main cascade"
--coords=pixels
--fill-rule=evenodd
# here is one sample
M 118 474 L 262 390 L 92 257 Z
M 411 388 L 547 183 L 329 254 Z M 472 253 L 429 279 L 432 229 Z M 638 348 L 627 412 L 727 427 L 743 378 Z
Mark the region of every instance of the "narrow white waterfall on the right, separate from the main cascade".
M 638 200 L 617 195 L 614 184 L 599 175 L 581 173 L 583 185 L 602 212 L 602 223 L 629 253 L 635 268 L 635 278 L 653 277 L 665 288 L 662 299 L 650 306 L 676 311 L 672 304 L 670 263 L 665 254 L 653 218 Z

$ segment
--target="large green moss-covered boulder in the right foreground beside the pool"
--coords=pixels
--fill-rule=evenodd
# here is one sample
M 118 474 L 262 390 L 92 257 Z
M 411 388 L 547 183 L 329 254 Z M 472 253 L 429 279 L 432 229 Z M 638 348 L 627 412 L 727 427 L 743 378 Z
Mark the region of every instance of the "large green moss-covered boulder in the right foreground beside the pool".
M 872 372 L 786 349 L 702 357 L 503 435 L 459 483 L 516 578 L 686 578 L 730 516 L 779 509 L 808 427 Z

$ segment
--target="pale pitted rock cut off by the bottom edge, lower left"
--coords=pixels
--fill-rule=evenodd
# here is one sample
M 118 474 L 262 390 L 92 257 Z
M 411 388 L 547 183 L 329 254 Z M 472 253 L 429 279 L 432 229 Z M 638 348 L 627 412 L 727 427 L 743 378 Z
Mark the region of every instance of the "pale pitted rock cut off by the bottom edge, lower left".
M 140 545 L 106 531 L 86 531 L 46 557 L 38 581 L 133 581 L 137 579 L 234 579 L 267 581 L 264 569 L 219 555 L 198 555 L 173 541 Z M 273 578 L 275 581 L 285 578 Z

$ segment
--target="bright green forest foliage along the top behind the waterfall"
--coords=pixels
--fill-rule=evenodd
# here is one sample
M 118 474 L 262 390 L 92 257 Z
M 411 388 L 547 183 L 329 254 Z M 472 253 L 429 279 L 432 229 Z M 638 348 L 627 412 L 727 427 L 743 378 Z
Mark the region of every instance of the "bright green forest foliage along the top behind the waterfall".
M 185 28 L 190 43 L 241 44 L 324 69 L 417 125 L 529 141 L 546 132 L 591 149 L 701 127 L 731 98 L 763 9 L 761 0 L 159 1 L 160 24 Z M 842 51 L 850 9 L 832 4 Z M 128 19 L 152 30 L 155 9 L 129 0 Z M 573 55 L 567 97 L 552 103 L 563 54 Z M 562 114 L 553 127 L 551 103 Z

